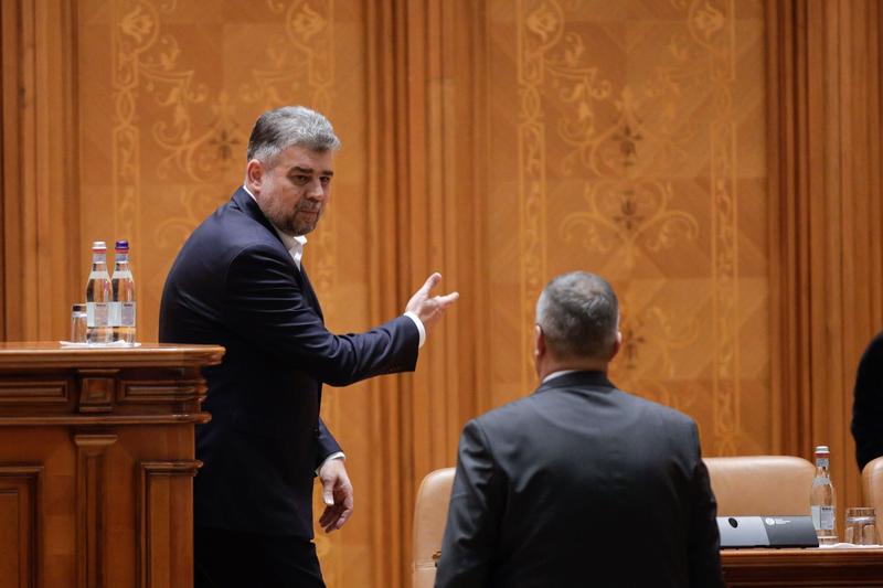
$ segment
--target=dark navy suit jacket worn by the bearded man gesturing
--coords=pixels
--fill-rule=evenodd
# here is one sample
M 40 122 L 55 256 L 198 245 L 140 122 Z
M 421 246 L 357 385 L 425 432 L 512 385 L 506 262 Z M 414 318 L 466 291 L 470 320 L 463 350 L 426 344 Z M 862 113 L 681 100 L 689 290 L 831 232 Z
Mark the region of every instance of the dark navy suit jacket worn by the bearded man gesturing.
M 240 189 L 184 243 L 160 307 L 160 341 L 226 349 L 203 372 L 196 526 L 312 537 L 313 472 L 340 449 L 319 419 L 322 383 L 413 371 L 418 339 L 407 317 L 328 332 L 306 272 Z

